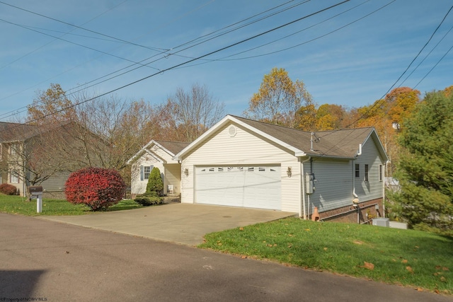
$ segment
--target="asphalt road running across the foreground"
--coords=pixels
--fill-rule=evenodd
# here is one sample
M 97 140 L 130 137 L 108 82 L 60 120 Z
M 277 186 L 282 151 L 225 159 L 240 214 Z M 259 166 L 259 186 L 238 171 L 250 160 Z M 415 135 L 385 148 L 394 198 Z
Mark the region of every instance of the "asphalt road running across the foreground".
M 453 297 L 0 214 L 0 301 L 425 302 Z

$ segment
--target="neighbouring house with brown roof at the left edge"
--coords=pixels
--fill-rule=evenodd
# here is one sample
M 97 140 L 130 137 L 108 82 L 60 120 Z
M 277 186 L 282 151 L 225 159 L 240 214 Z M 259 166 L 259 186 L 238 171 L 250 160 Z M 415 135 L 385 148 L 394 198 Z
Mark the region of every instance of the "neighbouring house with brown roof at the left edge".
M 86 166 L 84 141 L 76 139 L 76 129 L 81 128 L 74 122 L 54 127 L 0 122 L 0 183 L 15 186 L 21 196 L 29 185 L 40 185 L 44 197 L 64 198 L 69 174 Z M 91 132 L 88 136 L 99 141 Z

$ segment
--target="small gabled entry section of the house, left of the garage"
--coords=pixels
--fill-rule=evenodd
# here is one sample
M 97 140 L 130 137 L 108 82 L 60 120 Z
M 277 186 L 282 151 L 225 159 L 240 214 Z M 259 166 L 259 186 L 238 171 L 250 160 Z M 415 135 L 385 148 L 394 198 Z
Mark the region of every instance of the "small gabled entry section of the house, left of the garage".
M 181 165 L 178 161 L 173 160 L 173 156 L 188 144 L 177 141 L 151 140 L 135 153 L 127 161 L 127 163 L 132 163 L 132 197 L 146 192 L 149 173 L 154 167 L 161 171 L 161 177 L 164 181 L 164 194 L 172 196 L 180 194 Z

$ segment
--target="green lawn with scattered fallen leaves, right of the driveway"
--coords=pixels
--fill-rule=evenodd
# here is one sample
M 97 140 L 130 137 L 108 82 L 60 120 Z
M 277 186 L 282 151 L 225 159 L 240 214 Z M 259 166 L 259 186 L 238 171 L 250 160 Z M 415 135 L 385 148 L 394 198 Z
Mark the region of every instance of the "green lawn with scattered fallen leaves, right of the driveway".
M 423 231 L 290 218 L 210 233 L 199 247 L 453 294 L 453 238 Z

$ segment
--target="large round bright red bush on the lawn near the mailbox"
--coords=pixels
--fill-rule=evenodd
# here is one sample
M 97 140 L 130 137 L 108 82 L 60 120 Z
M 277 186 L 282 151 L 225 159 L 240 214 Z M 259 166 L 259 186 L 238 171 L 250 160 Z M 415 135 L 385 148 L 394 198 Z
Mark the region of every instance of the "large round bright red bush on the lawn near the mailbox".
M 125 187 L 116 170 L 85 168 L 69 175 L 64 193 L 71 204 L 86 204 L 93 211 L 98 211 L 117 204 Z

